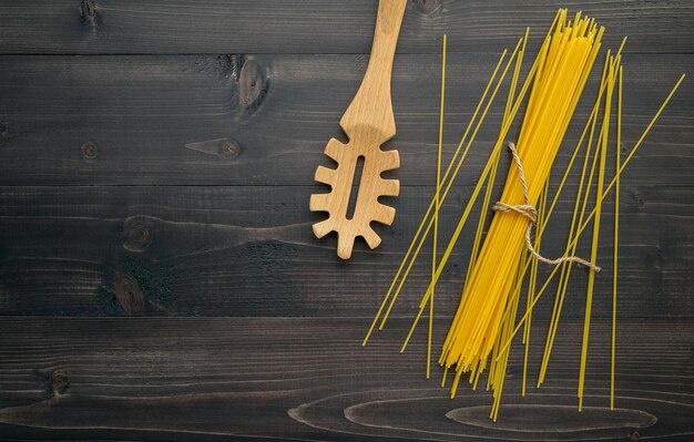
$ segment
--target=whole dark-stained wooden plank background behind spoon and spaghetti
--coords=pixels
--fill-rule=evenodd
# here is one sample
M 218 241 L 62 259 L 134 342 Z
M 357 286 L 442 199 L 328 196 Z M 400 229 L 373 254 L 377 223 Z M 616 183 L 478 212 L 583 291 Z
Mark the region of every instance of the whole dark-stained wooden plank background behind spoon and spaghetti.
M 380 248 L 358 244 L 344 263 L 334 237 L 314 238 L 322 216 L 308 197 L 323 191 L 313 174 L 364 73 L 376 4 L 0 1 L 0 440 L 694 439 L 691 79 L 622 179 L 618 411 L 605 410 L 612 199 L 582 414 L 583 273 L 545 386 L 520 398 L 514 346 L 494 424 L 489 393 L 466 386 L 451 401 L 438 369 L 425 379 L 423 329 L 398 353 L 428 259 L 389 327 L 359 346 L 432 192 L 442 33 L 447 157 L 498 54 L 525 25 L 537 50 L 560 6 L 604 23 L 605 48 L 629 35 L 626 150 L 678 75 L 694 74 L 694 4 L 410 1 L 392 79 L 398 135 L 387 146 L 402 163 L 396 222 L 378 230 Z M 443 236 L 499 119 L 496 107 L 441 215 Z M 549 255 L 565 238 L 573 178 Z M 471 237 L 466 229 L 438 290 L 438 341 Z M 531 383 L 550 305 L 533 323 Z

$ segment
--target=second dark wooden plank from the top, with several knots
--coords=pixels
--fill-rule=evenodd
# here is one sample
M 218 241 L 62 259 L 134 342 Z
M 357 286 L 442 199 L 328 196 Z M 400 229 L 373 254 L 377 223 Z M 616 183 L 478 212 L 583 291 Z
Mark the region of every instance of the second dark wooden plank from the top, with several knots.
M 509 42 L 507 42 L 509 43 Z M 450 58 L 447 158 L 458 144 L 497 54 Z M 392 94 L 402 185 L 436 174 L 437 55 L 396 60 Z M 0 184 L 308 185 L 364 74 L 363 55 L 2 56 Z M 625 60 L 625 148 L 631 147 L 694 55 Z M 599 70 L 596 70 L 599 71 Z M 595 72 L 598 73 L 598 72 Z M 595 79 L 567 135 L 575 143 Z M 462 168 L 472 183 L 499 131 L 501 93 Z M 685 81 L 629 169 L 640 185 L 691 185 L 691 110 Z M 510 132 L 512 138 L 517 130 Z M 666 177 L 666 181 L 665 178 Z

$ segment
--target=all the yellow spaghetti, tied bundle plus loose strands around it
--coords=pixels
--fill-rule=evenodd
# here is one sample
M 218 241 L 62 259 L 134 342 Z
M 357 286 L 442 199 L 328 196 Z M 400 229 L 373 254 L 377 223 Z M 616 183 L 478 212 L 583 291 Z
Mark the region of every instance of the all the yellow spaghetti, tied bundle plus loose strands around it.
M 402 343 L 400 351 L 405 351 L 419 320 L 427 307 L 429 308 L 429 327 L 427 337 L 427 378 L 430 377 L 431 346 L 433 335 L 433 300 L 435 288 L 443 268 L 450 258 L 453 247 L 462 232 L 465 224 L 476 205 L 477 198 L 487 186 L 482 202 L 482 212 L 477 223 L 477 232 L 470 250 L 468 271 L 465 286 L 450 329 L 442 345 L 439 363 L 443 367 L 441 387 L 446 386 L 449 370 L 452 370 L 450 397 L 455 398 L 460 380 L 467 377 L 473 389 L 477 389 L 482 373 L 487 373 L 486 388 L 491 390 L 493 398 L 490 418 L 497 420 L 501 403 L 501 395 L 510 354 L 510 343 L 524 326 L 522 341 L 524 343 L 521 394 L 527 392 L 528 359 L 531 336 L 532 310 L 548 289 L 554 276 L 561 270 L 557 289 L 552 316 L 548 328 L 544 352 L 538 377 L 538 387 L 544 381 L 552 345 L 557 336 L 559 320 L 567 295 L 573 263 L 583 264 L 590 269 L 599 271 L 595 266 L 598 245 L 600 239 L 601 205 L 613 187 L 616 187 L 615 217 L 614 217 L 614 258 L 612 285 L 612 349 L 610 371 L 610 407 L 614 408 L 614 367 L 615 367 L 615 333 L 616 333 L 616 277 L 618 277 L 618 245 L 619 245 L 619 185 L 620 175 L 636 150 L 641 146 L 646 134 L 667 105 L 675 91 L 684 80 L 680 78 L 675 86 L 666 96 L 630 154 L 621 162 L 621 112 L 622 112 L 622 66 L 621 51 L 625 39 L 614 55 L 608 51 L 605 65 L 602 72 L 598 97 L 588 117 L 579 142 L 569 160 L 568 166 L 560 179 L 554 196 L 549 198 L 549 175 L 554 158 L 562 144 L 564 133 L 572 120 L 573 112 L 583 93 L 586 80 L 596 60 L 601 47 L 604 29 L 598 27 L 594 20 L 576 13 L 573 19 L 568 18 L 565 9 L 560 9 L 545 35 L 539 53 L 532 63 L 520 91 L 517 86 L 520 80 L 520 70 L 525 53 L 529 30 L 520 39 L 511 56 L 506 61 L 503 52 L 496 65 L 493 74 L 484 89 L 472 117 L 463 133 L 453 157 L 441 176 L 441 147 L 443 133 L 443 104 L 446 82 L 446 35 L 441 56 L 441 101 L 439 113 L 439 138 L 437 155 L 437 185 L 415 238 L 396 273 L 386 296 L 384 297 L 376 317 L 364 339 L 366 345 L 376 326 L 381 329 L 401 292 L 418 255 L 430 232 L 433 232 L 433 247 L 431 255 L 431 280 L 425 291 L 418 312 Z M 511 65 L 516 62 L 511 75 L 509 93 L 499 136 L 491 150 L 480 178 L 469 197 L 455 232 L 438 259 L 438 213 L 443 205 L 448 192 L 480 130 L 487 113 L 492 105 L 501 84 Z M 503 65 L 503 69 L 502 69 Z M 500 73 L 500 74 L 499 74 Z M 499 76 L 497 78 L 497 74 Z M 604 186 L 605 164 L 609 147 L 612 99 L 618 92 L 616 103 L 616 171 L 613 179 Z M 491 91 L 491 93 L 490 93 Z M 525 103 L 525 95 L 530 96 Z M 604 110 L 603 110 L 604 100 Z M 516 144 L 509 143 L 514 164 L 511 166 L 500 202 L 493 209 L 493 216 L 488 234 L 482 241 L 487 223 L 487 207 L 490 206 L 492 188 L 497 177 L 498 162 L 506 144 L 509 130 L 520 107 L 527 104 L 520 134 Z M 603 110 L 601 114 L 601 110 Z M 479 115 L 479 119 L 478 119 Z M 585 142 L 585 143 L 584 143 Z M 569 228 L 569 238 L 564 256 L 550 260 L 539 254 L 542 246 L 542 234 L 550 220 L 559 196 L 568 181 L 569 174 L 585 145 L 585 157 L 581 171 L 580 184 L 575 195 L 573 217 Z M 593 150 L 594 146 L 594 150 Z M 590 165 L 590 167 L 589 167 Z M 595 191 L 595 206 L 589 210 L 591 187 Z M 539 207 L 535 209 L 535 206 Z M 585 215 L 588 212 L 588 215 Z M 573 257 L 582 233 L 593 223 L 592 248 L 590 261 Z M 535 227 L 534 241 L 531 229 Z M 554 264 L 554 268 L 538 289 L 539 260 Z M 523 281 L 528 276 L 528 296 L 524 313 L 517 321 Z M 594 290 L 594 273 L 588 274 L 588 289 L 585 299 L 585 318 L 581 346 L 581 362 L 579 369 L 578 398 L 579 411 L 583 404 L 585 370 L 590 338 L 591 308 Z M 484 384 L 484 383 L 483 383 Z

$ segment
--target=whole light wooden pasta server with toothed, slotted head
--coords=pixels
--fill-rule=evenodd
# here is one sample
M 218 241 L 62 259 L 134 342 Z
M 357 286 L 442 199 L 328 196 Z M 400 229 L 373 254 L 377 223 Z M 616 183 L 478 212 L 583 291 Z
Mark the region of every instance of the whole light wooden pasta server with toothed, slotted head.
M 396 134 L 390 101 L 390 74 L 407 0 L 380 0 L 369 63 L 354 100 L 339 124 L 348 136 L 347 144 L 331 138 L 325 154 L 337 168 L 318 166 L 315 179 L 331 187 L 328 194 L 312 195 L 312 212 L 327 212 L 328 219 L 314 224 L 314 234 L 322 238 L 330 232 L 338 235 L 337 256 L 351 257 L 354 241 L 361 236 L 370 248 L 381 239 L 371 222 L 392 224 L 395 208 L 378 202 L 379 196 L 397 196 L 399 182 L 384 179 L 380 174 L 400 167 L 397 151 L 384 152 L 380 145 Z M 349 196 L 359 157 L 364 161 L 354 214 L 347 217 Z

